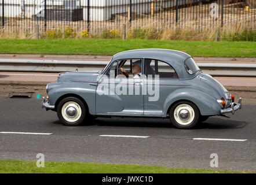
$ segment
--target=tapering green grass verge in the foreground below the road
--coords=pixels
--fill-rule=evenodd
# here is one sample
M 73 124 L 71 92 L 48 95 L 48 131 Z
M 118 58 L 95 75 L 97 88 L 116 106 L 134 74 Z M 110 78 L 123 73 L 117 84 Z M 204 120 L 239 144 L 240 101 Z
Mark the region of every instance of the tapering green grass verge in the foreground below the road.
M 166 168 L 162 166 L 101 164 L 81 162 L 45 162 L 36 167 L 36 161 L 0 160 L 0 173 L 255 173 L 222 171 L 217 169 Z

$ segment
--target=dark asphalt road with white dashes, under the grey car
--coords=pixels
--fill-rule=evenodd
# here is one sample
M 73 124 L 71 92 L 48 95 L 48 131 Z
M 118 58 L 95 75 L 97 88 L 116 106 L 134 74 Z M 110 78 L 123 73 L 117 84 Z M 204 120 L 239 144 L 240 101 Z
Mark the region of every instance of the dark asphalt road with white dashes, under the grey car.
M 175 129 L 169 119 L 98 118 L 89 125 L 67 127 L 57 114 L 41 109 L 39 99 L 0 98 L 0 159 L 109 162 L 175 168 L 256 171 L 256 105 L 244 104 L 231 119 L 214 116 L 195 129 Z M 36 132 L 52 135 L 2 134 Z M 149 136 L 122 138 L 100 135 Z M 247 139 L 245 141 L 193 138 Z

